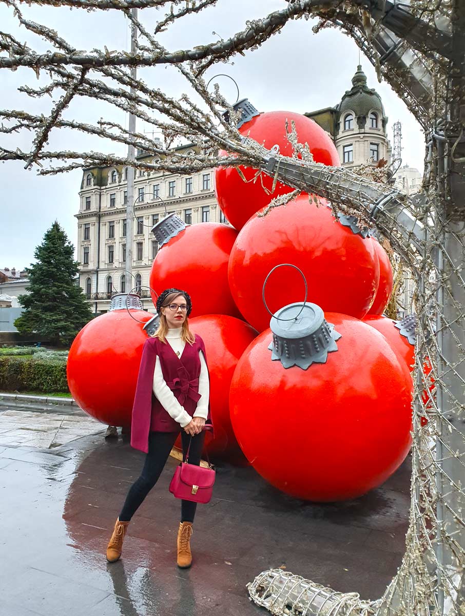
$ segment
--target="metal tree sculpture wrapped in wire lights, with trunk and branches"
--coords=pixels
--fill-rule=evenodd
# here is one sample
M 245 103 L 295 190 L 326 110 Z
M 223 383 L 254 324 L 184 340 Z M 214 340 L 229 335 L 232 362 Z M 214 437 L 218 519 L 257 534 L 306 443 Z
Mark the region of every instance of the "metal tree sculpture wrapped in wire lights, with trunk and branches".
M 173 11 L 155 31 L 137 19 L 134 7 L 164 6 L 164 0 L 31 0 L 30 4 L 67 5 L 89 10 L 120 10 L 139 32 L 135 54 L 76 51 L 59 34 L 28 21 L 15 4 L 19 22 L 46 39 L 55 49 L 43 54 L 23 38 L 0 35 L 0 68 L 30 67 L 50 81 L 39 89 L 23 87 L 35 97 L 65 94 L 49 116 L 23 110 L 0 111 L 6 124 L 2 134 L 30 130 L 29 152 L 0 148 L 0 160 L 22 160 L 26 166 L 52 163 L 42 174 L 92 164 L 130 164 L 134 167 L 188 173 L 217 165 L 260 169 L 274 181 L 316 193 L 331 201 L 335 213 L 358 217 L 359 224 L 375 226 L 386 237 L 416 282 L 418 317 L 413 413 L 413 474 L 410 527 L 406 553 L 398 574 L 380 599 L 362 601 L 356 593 L 338 593 L 280 569 L 261 573 L 249 585 L 251 598 L 273 614 L 302 616 L 459 616 L 465 613 L 465 2 L 463 0 L 289 0 L 285 8 L 247 23 L 244 31 L 227 40 L 170 52 L 158 33 L 179 18 L 216 4 L 204 0 Z M 174 7 L 176 6 L 176 10 Z M 22 6 L 23 7 L 23 6 Z M 131 9 L 131 10 L 130 10 Z M 424 182 L 420 195 L 406 198 L 389 185 L 376 183 L 346 169 L 312 163 L 303 144 L 294 148 L 302 159 L 283 158 L 265 150 L 237 131 L 237 114 L 216 88 L 208 94 L 204 72 L 219 60 L 264 44 L 288 20 L 320 17 L 315 32 L 328 26 L 352 36 L 363 53 L 405 102 L 426 134 Z M 56 51 L 58 50 L 58 52 Z M 293 50 L 289 50 L 292 54 Z M 127 68 L 158 63 L 176 65 L 204 110 L 187 95 L 172 99 L 134 79 Z M 97 79 L 93 76 L 97 74 Z M 48 77 L 47 77 L 48 78 Z M 102 79 L 103 78 L 103 79 Z M 129 90 L 131 88 L 131 90 Z M 163 131 L 166 142 L 180 137 L 197 150 L 184 155 L 161 146 L 144 134 L 132 136 L 118 124 L 100 125 L 65 120 L 62 112 L 76 96 L 105 100 Z M 218 107 L 222 105 L 222 109 Z M 229 111 L 230 123 L 222 111 Z M 163 120 L 153 112 L 163 113 Z M 52 129 L 71 128 L 153 153 L 152 163 L 99 152 L 46 152 Z M 296 136 L 292 133 L 289 139 Z M 230 156 L 220 159 L 223 149 Z M 58 161 L 61 166 L 54 166 Z M 62 161 L 65 161 L 62 163 Z M 295 193 L 291 193 L 295 195 Z M 283 198 L 270 207 L 283 203 Z M 428 389 L 424 362 L 432 363 L 434 395 Z M 428 377 L 429 378 L 429 377 Z M 422 419 L 427 418 L 427 421 Z

